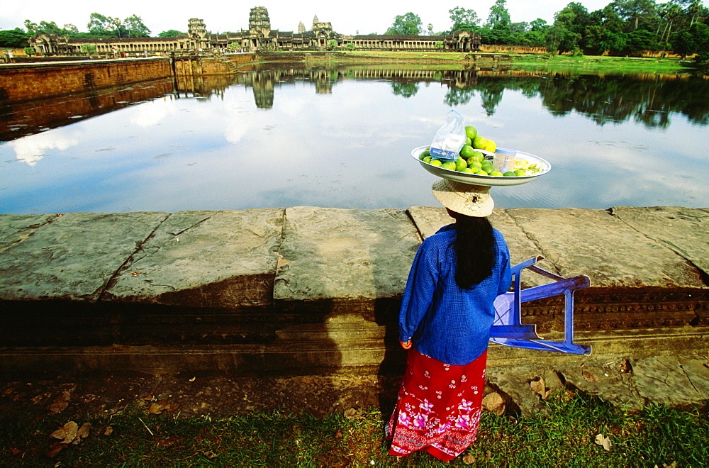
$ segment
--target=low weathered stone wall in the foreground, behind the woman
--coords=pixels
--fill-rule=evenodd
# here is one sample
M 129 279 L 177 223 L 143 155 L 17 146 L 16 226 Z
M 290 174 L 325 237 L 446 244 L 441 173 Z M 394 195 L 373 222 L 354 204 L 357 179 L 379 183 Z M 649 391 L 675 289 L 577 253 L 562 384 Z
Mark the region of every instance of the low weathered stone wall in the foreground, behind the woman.
M 432 207 L 1 215 L 0 371 L 386 373 L 402 362 L 413 255 L 450 221 Z M 491 221 L 513 263 L 541 255 L 549 272 L 591 278 L 575 325 L 594 353 L 707 351 L 709 209 L 496 209 Z M 523 315 L 557 339 L 563 298 Z

